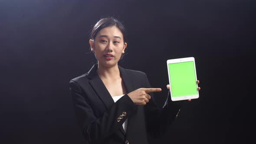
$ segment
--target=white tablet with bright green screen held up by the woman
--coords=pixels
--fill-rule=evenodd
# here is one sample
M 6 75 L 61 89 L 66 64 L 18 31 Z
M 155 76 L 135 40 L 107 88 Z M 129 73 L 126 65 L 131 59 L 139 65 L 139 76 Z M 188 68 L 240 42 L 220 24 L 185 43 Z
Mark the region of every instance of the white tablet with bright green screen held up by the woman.
M 199 98 L 194 57 L 168 59 L 167 69 L 172 101 Z

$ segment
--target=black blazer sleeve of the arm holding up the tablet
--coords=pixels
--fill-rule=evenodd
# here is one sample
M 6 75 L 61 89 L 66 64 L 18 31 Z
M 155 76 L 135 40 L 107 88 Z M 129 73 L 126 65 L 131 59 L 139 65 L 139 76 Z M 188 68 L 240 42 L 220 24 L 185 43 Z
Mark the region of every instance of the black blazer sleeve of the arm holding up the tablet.
M 144 82 L 146 87 L 151 88 L 146 74 Z M 167 132 L 168 128 L 170 128 L 170 125 L 177 117 L 183 101 L 171 101 L 171 98 L 168 98 L 170 95 L 168 93 L 163 108 L 159 108 L 154 101 L 154 94 L 149 93 L 149 95 L 151 95 L 151 100 L 145 106 L 148 133 L 151 136 L 160 138 Z

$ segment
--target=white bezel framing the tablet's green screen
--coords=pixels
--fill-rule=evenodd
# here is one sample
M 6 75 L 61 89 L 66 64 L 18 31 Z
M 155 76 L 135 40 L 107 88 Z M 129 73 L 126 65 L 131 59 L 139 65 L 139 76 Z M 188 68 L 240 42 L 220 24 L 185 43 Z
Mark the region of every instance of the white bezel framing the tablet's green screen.
M 168 80 L 169 80 L 169 85 L 170 85 L 170 94 L 171 94 L 171 100 L 172 101 L 181 101 L 181 100 L 187 100 L 187 99 L 195 99 L 199 98 L 199 91 L 197 89 L 197 94 L 196 95 L 184 95 L 184 96 L 178 96 L 178 97 L 173 97 L 172 92 L 171 92 L 171 79 L 170 79 L 170 73 L 169 73 L 169 64 L 172 63 L 179 63 L 179 62 L 192 62 L 194 63 L 194 72 L 195 72 L 195 83 L 197 85 L 197 72 L 196 72 L 196 64 L 195 64 L 195 59 L 194 57 L 186 57 L 186 58 L 178 58 L 178 59 L 168 59 L 167 60 L 167 71 L 168 71 Z M 198 85 L 197 85 L 198 87 Z

